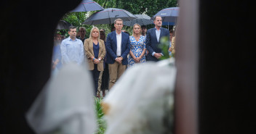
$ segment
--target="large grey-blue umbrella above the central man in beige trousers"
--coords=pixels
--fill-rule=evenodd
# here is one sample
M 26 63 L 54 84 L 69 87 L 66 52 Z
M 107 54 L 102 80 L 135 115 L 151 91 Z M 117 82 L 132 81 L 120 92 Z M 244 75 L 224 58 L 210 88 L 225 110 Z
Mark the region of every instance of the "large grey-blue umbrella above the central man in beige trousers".
M 120 18 L 123 21 L 129 21 L 135 19 L 136 16 L 124 9 L 108 8 L 100 12 L 95 12 L 89 16 L 87 20 L 84 20 L 83 24 L 112 24 L 117 18 Z

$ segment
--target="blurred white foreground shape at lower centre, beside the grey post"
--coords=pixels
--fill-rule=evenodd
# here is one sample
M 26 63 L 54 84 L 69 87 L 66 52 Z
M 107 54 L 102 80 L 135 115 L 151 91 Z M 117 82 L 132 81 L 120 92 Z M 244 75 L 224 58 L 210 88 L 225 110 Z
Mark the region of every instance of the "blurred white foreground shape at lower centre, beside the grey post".
M 105 134 L 172 134 L 174 59 L 128 69 L 103 99 Z

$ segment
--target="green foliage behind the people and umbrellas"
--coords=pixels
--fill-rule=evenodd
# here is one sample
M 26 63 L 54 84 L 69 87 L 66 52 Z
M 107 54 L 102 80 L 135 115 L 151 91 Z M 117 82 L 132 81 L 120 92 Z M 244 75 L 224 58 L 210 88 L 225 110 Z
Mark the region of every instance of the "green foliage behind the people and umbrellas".
M 125 9 L 132 14 L 148 14 L 148 16 L 153 17 L 154 14 L 159 12 L 161 9 L 167 7 L 177 7 L 177 0 L 148 0 L 148 1 L 140 1 L 140 0 L 95 0 L 100 6 L 103 8 L 118 8 L 118 9 Z M 84 25 L 82 22 L 89 17 L 89 15 L 93 14 L 94 12 L 68 12 L 63 16 L 61 20 L 65 20 L 70 22 L 71 25 L 76 26 L 76 28 L 84 27 L 86 28 L 86 37 L 89 38 L 90 30 L 92 29 L 92 25 Z M 105 29 L 105 34 L 111 32 L 111 27 L 113 24 L 103 24 L 103 25 L 95 25 L 99 29 Z M 154 25 L 147 25 L 147 28 L 153 28 Z M 163 26 L 167 28 L 167 26 Z M 124 26 L 123 30 L 127 30 L 130 35 L 132 35 L 132 27 Z M 68 30 L 60 30 L 62 35 L 68 37 Z

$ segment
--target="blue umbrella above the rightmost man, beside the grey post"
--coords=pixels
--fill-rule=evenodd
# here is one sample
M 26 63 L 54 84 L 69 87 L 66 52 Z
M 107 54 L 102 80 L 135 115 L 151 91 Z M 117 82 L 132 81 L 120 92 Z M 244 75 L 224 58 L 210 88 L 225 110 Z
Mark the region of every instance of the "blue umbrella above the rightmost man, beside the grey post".
M 153 17 L 161 16 L 163 22 L 177 22 L 177 17 L 179 16 L 180 7 L 169 7 L 166 9 L 162 9 L 157 12 Z M 153 20 L 153 17 L 151 20 Z

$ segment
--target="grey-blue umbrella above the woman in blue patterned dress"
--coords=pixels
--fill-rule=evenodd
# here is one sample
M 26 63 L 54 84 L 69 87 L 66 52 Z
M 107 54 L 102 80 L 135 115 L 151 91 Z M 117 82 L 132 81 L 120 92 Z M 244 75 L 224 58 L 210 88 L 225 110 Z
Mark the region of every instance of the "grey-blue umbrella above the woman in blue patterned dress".
M 133 26 L 136 23 L 140 24 L 140 25 L 149 25 L 149 24 L 153 24 L 153 20 L 151 20 L 151 17 L 149 17 L 146 14 L 135 14 L 135 16 L 137 18 L 135 18 L 134 20 L 130 20 L 130 21 L 125 21 L 124 25 L 127 26 Z

